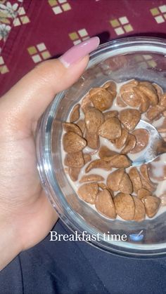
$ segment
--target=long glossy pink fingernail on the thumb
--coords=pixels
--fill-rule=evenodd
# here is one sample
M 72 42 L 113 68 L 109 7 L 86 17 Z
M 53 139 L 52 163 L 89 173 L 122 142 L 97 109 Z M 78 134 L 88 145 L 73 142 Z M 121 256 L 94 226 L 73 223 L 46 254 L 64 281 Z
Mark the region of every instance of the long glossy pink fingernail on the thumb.
M 60 62 L 62 62 L 65 67 L 69 67 L 73 63 L 84 58 L 84 56 L 86 56 L 87 54 L 91 53 L 91 51 L 94 51 L 99 44 L 100 39 L 98 38 L 98 36 L 87 39 L 86 41 L 73 46 L 62 56 L 60 56 Z

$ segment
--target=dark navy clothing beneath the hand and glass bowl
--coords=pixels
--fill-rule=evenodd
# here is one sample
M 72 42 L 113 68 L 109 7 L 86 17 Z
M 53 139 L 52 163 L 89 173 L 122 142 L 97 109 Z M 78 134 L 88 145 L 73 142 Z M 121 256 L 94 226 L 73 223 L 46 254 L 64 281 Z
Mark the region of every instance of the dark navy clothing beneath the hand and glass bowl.
M 59 220 L 58 234 L 71 234 Z M 49 241 L 21 253 L 0 273 L 1 294 L 165 294 L 166 258 L 104 253 L 84 241 Z

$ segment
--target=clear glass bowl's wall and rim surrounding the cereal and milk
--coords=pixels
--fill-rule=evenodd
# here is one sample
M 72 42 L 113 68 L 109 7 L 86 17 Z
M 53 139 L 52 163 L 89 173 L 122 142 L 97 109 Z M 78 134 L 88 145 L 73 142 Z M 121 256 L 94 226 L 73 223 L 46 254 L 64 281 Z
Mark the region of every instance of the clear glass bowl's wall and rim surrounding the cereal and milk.
M 158 83 L 166 91 L 166 41 L 157 38 L 132 37 L 110 41 L 91 53 L 89 66 L 67 91 L 56 95 L 44 113 L 37 130 L 37 160 L 41 182 L 60 218 L 72 229 L 99 235 L 100 241 L 89 241 L 110 253 L 132 257 L 160 257 L 166 253 L 166 213 L 143 222 L 109 220 L 81 201 L 70 186 L 63 170 L 60 144 L 62 122 L 70 109 L 89 88 L 139 79 Z M 140 241 L 131 234 L 143 230 Z M 126 234 L 127 241 L 109 241 L 104 233 Z

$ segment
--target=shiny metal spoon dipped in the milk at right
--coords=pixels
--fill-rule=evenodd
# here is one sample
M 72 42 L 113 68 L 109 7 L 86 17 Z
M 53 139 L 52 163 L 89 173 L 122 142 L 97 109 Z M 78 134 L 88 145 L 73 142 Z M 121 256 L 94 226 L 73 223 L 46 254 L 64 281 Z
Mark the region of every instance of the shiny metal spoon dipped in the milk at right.
M 166 142 L 151 123 L 140 120 L 136 128 L 146 129 L 149 134 L 149 141 L 146 149 L 141 152 L 141 156 L 132 161 L 132 166 L 141 166 L 143 163 L 151 162 L 160 154 L 166 152 Z

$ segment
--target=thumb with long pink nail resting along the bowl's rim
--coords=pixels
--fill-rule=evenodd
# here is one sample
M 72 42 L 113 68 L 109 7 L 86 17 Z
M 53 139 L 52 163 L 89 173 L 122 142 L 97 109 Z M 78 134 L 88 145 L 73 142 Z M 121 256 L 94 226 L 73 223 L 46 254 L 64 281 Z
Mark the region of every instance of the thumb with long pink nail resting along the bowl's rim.
M 56 93 L 71 86 L 84 72 L 89 62 L 87 54 L 98 44 L 98 37 L 88 39 L 70 48 L 59 59 L 34 67 L 1 98 L 1 118 L 11 126 L 18 123 L 20 131 L 32 130 Z

